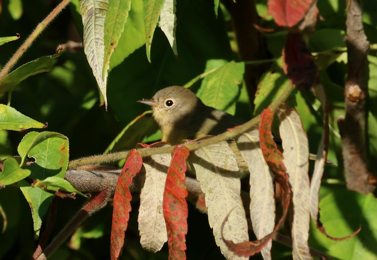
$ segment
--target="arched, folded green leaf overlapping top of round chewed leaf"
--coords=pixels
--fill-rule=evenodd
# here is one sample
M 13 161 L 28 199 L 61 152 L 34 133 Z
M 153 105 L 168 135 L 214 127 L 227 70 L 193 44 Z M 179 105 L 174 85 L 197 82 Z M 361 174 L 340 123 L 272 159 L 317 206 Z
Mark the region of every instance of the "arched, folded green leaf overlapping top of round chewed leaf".
M 23 165 L 26 155 L 38 144 L 42 143 L 43 141 L 47 140 L 48 138 L 61 138 L 64 140 L 68 140 L 68 138 L 62 134 L 56 132 L 30 132 L 22 139 L 21 143 L 18 144 L 18 154 L 21 156 L 21 164 Z M 63 148 L 63 147 L 62 147 Z

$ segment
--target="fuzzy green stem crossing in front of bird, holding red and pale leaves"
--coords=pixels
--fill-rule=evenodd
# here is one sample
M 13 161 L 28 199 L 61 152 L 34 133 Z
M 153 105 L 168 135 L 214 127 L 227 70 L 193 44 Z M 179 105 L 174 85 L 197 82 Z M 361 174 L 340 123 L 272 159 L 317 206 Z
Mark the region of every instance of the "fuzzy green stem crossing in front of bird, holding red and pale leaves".
M 284 92 L 281 94 L 281 96 L 279 96 L 269 106 L 269 108 L 271 109 L 272 112 L 275 112 L 277 107 L 287 99 L 287 97 L 289 96 L 289 94 L 291 93 L 292 90 L 293 90 L 293 86 L 290 84 L 288 86 L 288 88 L 284 90 Z M 199 140 L 199 141 L 195 141 L 195 142 L 185 143 L 185 146 L 190 151 L 194 151 L 196 149 L 199 149 L 200 147 L 215 144 L 215 143 L 218 143 L 220 141 L 230 140 L 230 139 L 248 131 L 254 125 L 257 125 L 260 120 L 261 120 L 261 116 L 258 115 L 256 117 L 254 117 L 253 119 L 251 119 L 250 121 L 244 123 L 241 126 L 238 126 L 238 127 L 233 128 L 229 131 L 226 131 L 222 134 L 216 135 L 214 137 L 211 137 L 211 138 L 208 138 L 208 139 L 205 139 L 205 140 Z M 138 149 L 138 152 L 140 153 L 140 155 L 142 157 L 147 157 L 147 156 L 154 155 L 154 154 L 167 154 L 167 153 L 171 153 L 172 151 L 173 151 L 173 146 Z M 73 161 L 70 161 L 68 169 L 71 170 L 71 169 L 75 169 L 79 166 L 88 165 L 88 164 L 110 163 L 110 162 L 113 162 L 113 161 L 118 161 L 118 160 L 126 158 L 127 154 L 128 154 L 128 151 L 124 151 L 124 152 L 117 152 L 117 153 L 113 153 L 113 154 L 97 155 L 97 156 L 73 160 Z

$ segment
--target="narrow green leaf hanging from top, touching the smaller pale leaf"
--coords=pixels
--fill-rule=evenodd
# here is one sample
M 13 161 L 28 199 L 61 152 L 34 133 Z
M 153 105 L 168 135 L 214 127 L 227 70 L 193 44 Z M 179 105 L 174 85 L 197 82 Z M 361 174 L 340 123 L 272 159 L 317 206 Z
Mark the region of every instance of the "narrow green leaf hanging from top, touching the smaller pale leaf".
M 158 23 L 162 6 L 165 0 L 145 0 L 144 1 L 144 26 L 146 34 L 147 58 L 150 62 L 150 47 L 152 45 L 153 34 Z

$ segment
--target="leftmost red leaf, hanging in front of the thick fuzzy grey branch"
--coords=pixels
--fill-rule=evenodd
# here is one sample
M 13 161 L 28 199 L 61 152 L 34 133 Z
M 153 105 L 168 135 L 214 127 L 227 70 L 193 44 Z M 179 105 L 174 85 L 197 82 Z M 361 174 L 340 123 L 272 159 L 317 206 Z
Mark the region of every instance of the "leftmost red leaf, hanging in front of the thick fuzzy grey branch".
M 113 220 L 110 236 L 110 255 L 115 260 L 119 257 L 124 243 L 124 231 L 130 218 L 132 199 L 129 185 L 133 177 L 141 170 L 143 159 L 136 149 L 132 149 L 126 158 L 126 163 L 119 175 L 114 194 Z

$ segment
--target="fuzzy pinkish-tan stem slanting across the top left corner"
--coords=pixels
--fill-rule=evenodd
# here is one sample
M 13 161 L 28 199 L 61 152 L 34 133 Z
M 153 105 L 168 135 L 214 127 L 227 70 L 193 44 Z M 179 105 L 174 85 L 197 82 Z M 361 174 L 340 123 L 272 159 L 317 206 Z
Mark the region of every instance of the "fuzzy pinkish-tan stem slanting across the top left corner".
M 0 82 L 3 78 L 8 74 L 9 70 L 14 66 L 14 64 L 20 59 L 20 57 L 25 53 L 25 51 L 31 46 L 34 40 L 38 37 L 38 35 L 47 27 L 47 25 L 63 10 L 70 0 L 62 0 L 61 3 L 54 9 L 52 12 L 44 18 L 44 20 L 37 25 L 34 31 L 29 35 L 26 41 L 18 48 L 18 50 L 14 53 L 12 58 L 8 61 L 8 63 L 3 67 L 2 71 L 0 71 Z

